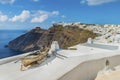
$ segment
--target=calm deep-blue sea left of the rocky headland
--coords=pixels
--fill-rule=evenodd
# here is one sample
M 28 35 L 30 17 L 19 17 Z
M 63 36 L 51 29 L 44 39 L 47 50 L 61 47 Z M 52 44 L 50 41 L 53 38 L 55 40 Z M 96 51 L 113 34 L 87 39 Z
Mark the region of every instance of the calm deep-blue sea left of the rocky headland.
M 5 48 L 9 41 L 26 33 L 26 30 L 0 30 L 0 59 L 21 54 L 21 52 L 12 51 Z

